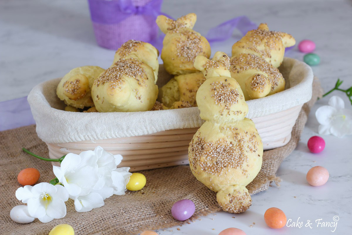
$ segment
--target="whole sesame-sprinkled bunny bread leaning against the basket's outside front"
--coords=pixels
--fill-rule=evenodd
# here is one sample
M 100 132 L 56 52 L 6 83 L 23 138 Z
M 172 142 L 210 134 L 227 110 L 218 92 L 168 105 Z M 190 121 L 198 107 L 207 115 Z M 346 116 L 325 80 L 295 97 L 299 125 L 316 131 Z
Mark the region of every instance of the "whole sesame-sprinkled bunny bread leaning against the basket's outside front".
M 240 213 L 251 205 L 246 186 L 262 166 L 263 144 L 253 121 L 245 118 L 248 106 L 231 78 L 229 60 L 219 51 L 213 60 L 195 59 L 194 67 L 207 78 L 196 95 L 205 123 L 189 143 L 188 160 L 197 180 L 217 192 L 222 210 Z

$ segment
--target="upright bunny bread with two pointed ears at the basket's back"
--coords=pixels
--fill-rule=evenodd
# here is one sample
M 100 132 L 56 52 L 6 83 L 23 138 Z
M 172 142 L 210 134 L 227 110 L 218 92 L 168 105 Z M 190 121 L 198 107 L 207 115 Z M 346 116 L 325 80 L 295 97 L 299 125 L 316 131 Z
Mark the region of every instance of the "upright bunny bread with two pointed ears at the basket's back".
M 156 23 L 166 34 L 161 59 L 169 74 L 180 75 L 197 72 L 193 67 L 195 57 L 203 55 L 209 58 L 210 56 L 210 45 L 207 39 L 192 30 L 196 20 L 197 16 L 194 13 L 189 13 L 177 20 L 169 19 L 166 16 L 157 17 Z

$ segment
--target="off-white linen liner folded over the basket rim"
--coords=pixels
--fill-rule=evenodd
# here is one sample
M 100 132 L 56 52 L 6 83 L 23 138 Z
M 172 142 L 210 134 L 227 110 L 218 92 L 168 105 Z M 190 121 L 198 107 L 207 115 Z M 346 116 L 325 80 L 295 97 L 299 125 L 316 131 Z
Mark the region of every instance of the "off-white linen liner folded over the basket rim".
M 284 58 L 279 67 L 286 89 L 268 97 L 249 100 L 247 118 L 257 118 L 303 105 L 312 97 L 313 72 L 301 61 Z M 158 85 L 170 77 L 159 75 Z M 56 96 L 61 78 L 42 82 L 28 95 L 36 131 L 46 143 L 67 143 L 149 135 L 159 131 L 199 128 L 203 121 L 198 107 L 145 111 L 81 113 L 64 111 L 64 103 Z

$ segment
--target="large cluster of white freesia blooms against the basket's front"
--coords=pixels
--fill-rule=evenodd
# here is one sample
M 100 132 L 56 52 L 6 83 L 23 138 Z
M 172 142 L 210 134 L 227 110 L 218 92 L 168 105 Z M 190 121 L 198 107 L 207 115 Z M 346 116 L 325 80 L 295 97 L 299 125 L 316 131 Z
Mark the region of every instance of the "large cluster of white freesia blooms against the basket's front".
M 66 160 L 66 158 L 68 159 Z M 122 156 L 113 155 L 100 146 L 94 151 L 67 154 L 61 167 L 54 167 L 58 180 L 68 188 L 78 212 L 103 206 L 113 194 L 123 195 L 131 173 L 130 168 L 116 168 Z

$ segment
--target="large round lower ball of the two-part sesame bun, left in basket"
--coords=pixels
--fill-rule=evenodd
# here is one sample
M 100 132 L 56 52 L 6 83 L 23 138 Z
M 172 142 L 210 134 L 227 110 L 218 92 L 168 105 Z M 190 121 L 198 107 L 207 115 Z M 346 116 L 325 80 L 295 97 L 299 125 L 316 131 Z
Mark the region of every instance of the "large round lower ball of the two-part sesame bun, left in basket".
M 98 112 L 149 111 L 158 96 L 153 69 L 135 58 L 120 59 L 94 81 Z

